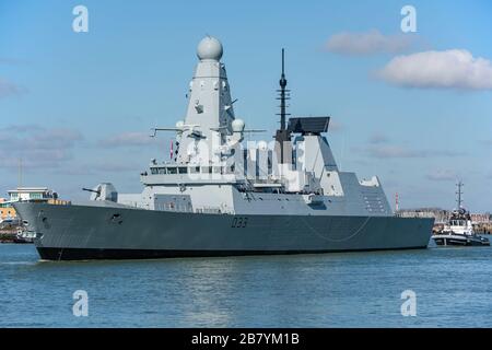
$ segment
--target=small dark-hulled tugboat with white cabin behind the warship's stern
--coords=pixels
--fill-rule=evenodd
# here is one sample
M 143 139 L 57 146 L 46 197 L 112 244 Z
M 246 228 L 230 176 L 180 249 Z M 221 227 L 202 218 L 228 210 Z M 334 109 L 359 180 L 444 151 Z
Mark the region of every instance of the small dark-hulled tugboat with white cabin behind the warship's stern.
M 443 231 L 434 234 L 432 238 L 435 244 L 441 246 L 490 246 L 489 238 L 475 233 L 470 212 L 461 206 L 462 183 L 459 182 L 457 187 L 458 209 L 453 211 L 448 222 L 444 225 Z

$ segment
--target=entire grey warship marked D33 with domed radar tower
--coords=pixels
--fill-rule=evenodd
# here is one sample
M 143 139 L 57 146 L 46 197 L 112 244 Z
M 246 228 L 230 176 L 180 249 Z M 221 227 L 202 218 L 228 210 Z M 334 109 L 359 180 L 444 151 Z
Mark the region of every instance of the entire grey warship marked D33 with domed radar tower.
M 235 117 L 222 44 L 198 45 L 184 120 L 168 162 L 151 160 L 141 194 L 109 183 L 86 201 L 14 205 L 48 260 L 141 259 L 426 248 L 433 219 L 397 218 L 379 179 L 337 166 L 330 117 L 289 117 L 283 69 L 280 127 L 245 142 Z M 245 143 L 247 145 L 245 147 Z

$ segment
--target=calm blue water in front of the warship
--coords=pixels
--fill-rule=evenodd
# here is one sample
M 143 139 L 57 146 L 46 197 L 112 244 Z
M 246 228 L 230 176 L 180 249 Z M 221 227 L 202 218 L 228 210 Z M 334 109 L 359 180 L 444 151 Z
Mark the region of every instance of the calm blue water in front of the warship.
M 48 262 L 0 244 L 0 326 L 492 327 L 492 249 Z

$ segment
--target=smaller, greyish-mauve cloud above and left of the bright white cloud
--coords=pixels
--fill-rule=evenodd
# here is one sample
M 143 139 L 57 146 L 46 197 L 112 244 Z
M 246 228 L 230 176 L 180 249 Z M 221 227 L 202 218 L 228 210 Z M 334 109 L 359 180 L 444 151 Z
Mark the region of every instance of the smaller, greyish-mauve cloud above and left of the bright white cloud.
M 326 45 L 326 49 L 342 55 L 373 55 L 397 54 L 409 49 L 413 45 L 411 35 L 384 35 L 372 30 L 363 33 L 333 34 Z

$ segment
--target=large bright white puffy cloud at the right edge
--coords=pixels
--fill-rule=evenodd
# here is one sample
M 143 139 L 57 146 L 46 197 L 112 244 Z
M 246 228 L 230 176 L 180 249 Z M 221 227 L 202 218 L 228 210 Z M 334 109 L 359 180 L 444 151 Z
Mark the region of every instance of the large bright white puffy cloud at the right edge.
M 464 49 L 424 51 L 395 57 L 378 77 L 406 88 L 492 90 L 492 62 Z

